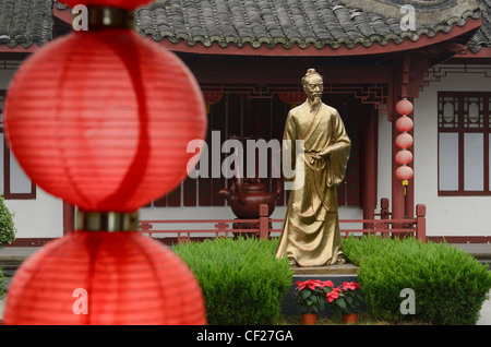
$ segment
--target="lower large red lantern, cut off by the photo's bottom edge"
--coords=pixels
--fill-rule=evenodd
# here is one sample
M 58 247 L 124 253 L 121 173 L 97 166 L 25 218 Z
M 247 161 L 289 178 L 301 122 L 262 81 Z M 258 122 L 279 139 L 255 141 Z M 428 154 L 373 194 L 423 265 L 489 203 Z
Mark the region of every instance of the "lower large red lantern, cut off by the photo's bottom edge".
M 73 231 L 16 271 L 3 324 L 205 324 L 188 266 L 137 232 Z

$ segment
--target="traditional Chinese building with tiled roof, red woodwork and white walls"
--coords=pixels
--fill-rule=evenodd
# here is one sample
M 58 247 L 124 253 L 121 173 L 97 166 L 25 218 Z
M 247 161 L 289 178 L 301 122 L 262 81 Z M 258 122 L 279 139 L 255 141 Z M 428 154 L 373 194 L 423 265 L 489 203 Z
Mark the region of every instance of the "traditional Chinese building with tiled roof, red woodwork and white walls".
M 491 229 L 490 10 L 488 0 L 157 0 L 135 20 L 137 33 L 176 52 L 196 76 L 211 147 L 218 131 L 219 143 L 280 140 L 288 110 L 304 100 L 300 79 L 314 68 L 324 76 L 324 103 L 339 111 L 352 141 L 340 218 L 373 218 L 382 198 L 393 218 L 411 217 L 423 203 L 429 238 L 482 242 Z M 22 60 L 70 32 L 71 21 L 52 1 L 0 1 L 0 103 Z M 407 186 L 395 160 L 403 98 L 415 105 Z M 69 231 L 73 207 L 33 186 L 4 143 L 0 153 L 17 244 Z M 274 189 L 272 178 L 263 182 Z M 232 217 L 218 195 L 227 184 L 224 177 L 188 178 L 142 208 L 142 218 Z M 284 217 L 286 198 L 274 217 Z

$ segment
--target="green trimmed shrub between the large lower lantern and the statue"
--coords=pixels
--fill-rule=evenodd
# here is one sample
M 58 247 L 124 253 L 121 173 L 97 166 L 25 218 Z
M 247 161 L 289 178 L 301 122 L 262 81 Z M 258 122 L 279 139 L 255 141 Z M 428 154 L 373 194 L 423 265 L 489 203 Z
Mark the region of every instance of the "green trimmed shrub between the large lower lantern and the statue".
M 277 242 L 217 238 L 173 247 L 200 283 L 208 324 L 276 322 L 292 279 L 288 260 L 275 256 Z

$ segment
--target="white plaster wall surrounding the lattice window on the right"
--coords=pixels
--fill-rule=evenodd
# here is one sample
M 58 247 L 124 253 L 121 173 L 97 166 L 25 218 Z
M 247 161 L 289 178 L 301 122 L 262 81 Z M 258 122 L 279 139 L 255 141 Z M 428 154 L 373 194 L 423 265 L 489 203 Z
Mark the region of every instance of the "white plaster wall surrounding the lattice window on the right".
M 491 236 L 491 196 L 438 196 L 439 91 L 491 91 L 491 79 L 450 73 L 415 100 L 415 203 L 427 205 L 429 236 Z

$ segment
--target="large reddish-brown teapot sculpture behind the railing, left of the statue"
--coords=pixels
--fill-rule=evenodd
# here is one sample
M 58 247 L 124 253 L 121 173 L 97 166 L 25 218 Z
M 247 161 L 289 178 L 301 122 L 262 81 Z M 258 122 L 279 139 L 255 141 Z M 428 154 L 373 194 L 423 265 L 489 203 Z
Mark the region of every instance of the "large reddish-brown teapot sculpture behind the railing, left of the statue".
M 230 189 L 220 189 L 218 194 L 230 204 L 231 211 L 238 218 L 259 218 L 261 204 L 268 207 L 268 216 L 275 211 L 276 201 L 283 192 L 282 180 L 276 180 L 276 191 L 268 192 L 260 178 L 236 178 Z

